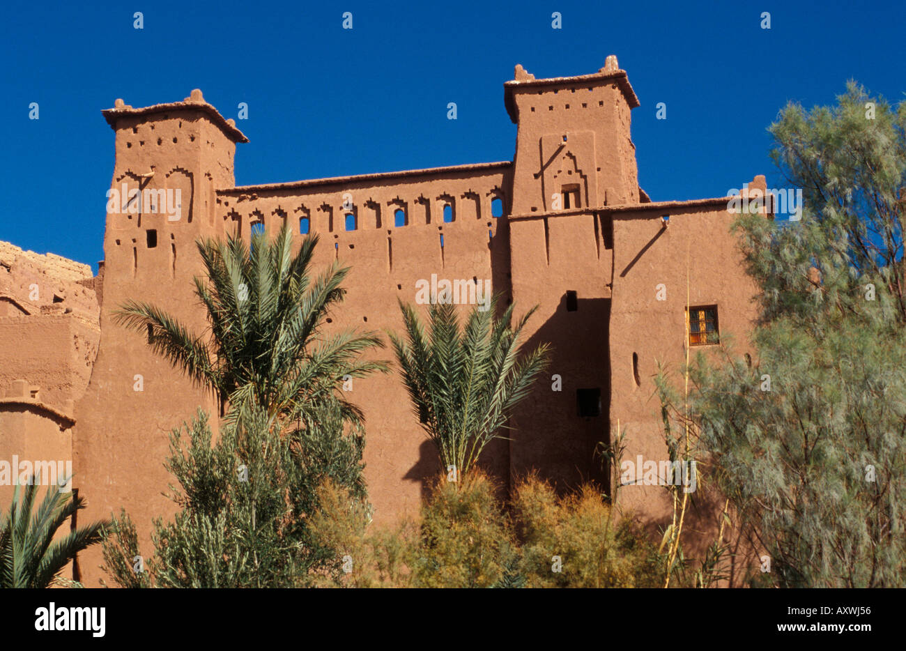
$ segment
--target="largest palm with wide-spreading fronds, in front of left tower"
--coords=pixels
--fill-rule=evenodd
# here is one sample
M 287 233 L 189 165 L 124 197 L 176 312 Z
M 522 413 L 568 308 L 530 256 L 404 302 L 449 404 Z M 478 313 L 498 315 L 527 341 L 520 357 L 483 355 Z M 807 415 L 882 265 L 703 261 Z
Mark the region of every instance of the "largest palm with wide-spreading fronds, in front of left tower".
M 115 318 L 147 332 L 155 352 L 212 390 L 221 413 L 227 402 L 234 414 L 257 404 L 269 416 L 296 420 L 336 401 L 344 418 L 361 422 L 361 412 L 342 399 L 338 384 L 386 371 L 383 362 L 361 360 L 361 353 L 382 343 L 372 333 L 319 336 L 330 309 L 342 301 L 349 267 L 334 261 L 313 277 L 317 243 L 317 235 L 308 236 L 293 255 L 286 226 L 273 242 L 253 233 L 251 248 L 235 237 L 199 240 L 207 279 L 195 278 L 195 293 L 207 309 L 209 332 L 193 333 L 159 307 L 135 301 Z

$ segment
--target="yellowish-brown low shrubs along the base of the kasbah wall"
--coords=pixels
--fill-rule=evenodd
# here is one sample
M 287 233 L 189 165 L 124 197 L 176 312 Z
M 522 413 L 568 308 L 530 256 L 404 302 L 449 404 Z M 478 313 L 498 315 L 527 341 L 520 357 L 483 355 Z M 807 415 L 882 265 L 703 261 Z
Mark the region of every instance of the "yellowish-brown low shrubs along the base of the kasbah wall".
M 546 483 L 520 484 L 511 515 L 480 473 L 439 478 L 419 520 L 373 529 L 361 504 L 326 484 L 311 527 L 336 550 L 317 573 L 324 587 L 591 588 L 654 587 L 663 561 L 630 519 L 614 523 L 591 487 L 557 499 Z M 563 559 L 554 572 L 552 559 Z M 342 557 L 352 571 L 342 571 Z

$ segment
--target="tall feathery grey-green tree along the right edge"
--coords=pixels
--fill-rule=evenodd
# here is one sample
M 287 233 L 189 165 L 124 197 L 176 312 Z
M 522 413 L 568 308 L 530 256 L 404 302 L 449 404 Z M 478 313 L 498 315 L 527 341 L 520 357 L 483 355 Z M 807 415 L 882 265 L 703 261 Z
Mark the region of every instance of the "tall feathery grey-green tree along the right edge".
M 737 221 L 762 288 L 755 353 L 699 355 L 690 413 L 712 476 L 772 559 L 759 585 L 902 587 L 906 103 L 851 83 L 834 108 L 787 106 L 771 132 L 803 219 Z M 680 418 L 679 396 L 662 398 Z

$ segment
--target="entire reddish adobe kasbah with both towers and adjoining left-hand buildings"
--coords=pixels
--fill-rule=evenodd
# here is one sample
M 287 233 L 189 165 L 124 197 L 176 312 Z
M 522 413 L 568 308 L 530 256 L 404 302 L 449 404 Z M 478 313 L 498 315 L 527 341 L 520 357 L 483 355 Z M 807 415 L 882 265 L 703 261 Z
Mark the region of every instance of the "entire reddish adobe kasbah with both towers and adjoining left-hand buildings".
M 72 460 L 73 490 L 88 502 L 79 519 L 125 508 L 151 553 L 151 520 L 174 512 L 164 496 L 168 434 L 199 407 L 216 428 L 217 405 L 111 314 L 146 301 L 204 330 L 196 240 L 289 224 L 297 246 L 319 234 L 317 268 L 352 267 L 328 332 L 401 332 L 397 300 L 414 303 L 416 283 L 432 275 L 489 279 L 516 315 L 538 306 L 526 342 L 553 345 L 551 364 L 513 414 L 509 440 L 482 458 L 504 489 L 534 469 L 562 489 L 593 480 L 609 491 L 613 473 L 594 452 L 618 422 L 625 459 L 668 459 L 653 376 L 658 361 L 678 370 L 686 357 L 687 306 L 707 308 L 740 352 L 756 317 L 728 198 L 651 201 L 639 187 L 630 136 L 639 100 L 615 56 L 593 74 L 535 79 L 516 66 L 515 77 L 504 84 L 513 161 L 256 186 L 236 186 L 246 136 L 200 91 L 139 109 L 117 100 L 103 111 L 115 133 L 111 189 L 179 189 L 179 219 L 123 201 L 107 214 L 96 277 L 0 243 L 2 458 Z M 764 191 L 763 177 L 753 189 Z M 365 414 L 376 522 L 415 514 L 441 469 L 399 374 L 356 379 L 347 397 Z M 5 506 L 11 495 L 0 486 Z M 663 486 L 625 486 L 619 500 L 652 531 L 671 512 Z M 100 565 L 91 549 L 75 576 L 97 586 Z

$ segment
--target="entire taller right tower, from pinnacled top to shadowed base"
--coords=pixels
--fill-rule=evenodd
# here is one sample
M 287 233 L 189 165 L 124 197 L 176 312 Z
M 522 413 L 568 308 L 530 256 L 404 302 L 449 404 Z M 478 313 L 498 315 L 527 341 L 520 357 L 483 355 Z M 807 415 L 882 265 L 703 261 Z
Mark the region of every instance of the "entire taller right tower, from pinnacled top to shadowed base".
M 504 87 L 518 124 L 508 216 L 513 299 L 522 310 L 538 307 L 525 328 L 529 345 L 552 346 L 547 374 L 513 415 L 510 471 L 538 471 L 561 488 L 600 482 L 613 256 L 601 209 L 641 200 L 630 137 L 639 102 L 613 56 L 577 77 L 539 80 L 517 66 Z

